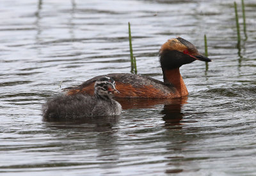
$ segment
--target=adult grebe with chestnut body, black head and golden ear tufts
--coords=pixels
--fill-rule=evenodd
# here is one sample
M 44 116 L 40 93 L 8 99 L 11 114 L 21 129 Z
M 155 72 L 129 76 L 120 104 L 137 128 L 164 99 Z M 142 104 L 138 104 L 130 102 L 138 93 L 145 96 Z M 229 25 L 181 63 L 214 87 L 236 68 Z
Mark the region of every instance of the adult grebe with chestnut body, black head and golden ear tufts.
M 159 61 L 163 70 L 164 82 L 151 77 L 135 74 L 115 73 L 106 76 L 113 77 L 120 90 L 115 97 L 121 98 L 175 98 L 188 95 L 188 90 L 179 67 L 195 60 L 211 61 L 209 58 L 199 54 L 195 45 L 183 38 L 171 38 L 161 46 L 159 50 Z M 93 94 L 93 83 L 101 76 L 93 77 L 74 88 L 66 88 L 67 95 L 77 93 Z

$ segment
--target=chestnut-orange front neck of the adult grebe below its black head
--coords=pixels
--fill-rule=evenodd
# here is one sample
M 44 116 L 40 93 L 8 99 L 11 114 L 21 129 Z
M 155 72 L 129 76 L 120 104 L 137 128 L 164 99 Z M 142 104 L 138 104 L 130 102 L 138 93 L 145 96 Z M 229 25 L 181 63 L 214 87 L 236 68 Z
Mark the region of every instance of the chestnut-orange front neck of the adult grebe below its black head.
M 188 90 L 182 79 L 182 76 L 180 75 L 179 68 L 173 68 L 171 70 L 162 68 L 162 70 L 163 70 L 164 83 L 172 84 L 176 88 L 177 93 L 180 94 L 180 97 L 188 95 Z

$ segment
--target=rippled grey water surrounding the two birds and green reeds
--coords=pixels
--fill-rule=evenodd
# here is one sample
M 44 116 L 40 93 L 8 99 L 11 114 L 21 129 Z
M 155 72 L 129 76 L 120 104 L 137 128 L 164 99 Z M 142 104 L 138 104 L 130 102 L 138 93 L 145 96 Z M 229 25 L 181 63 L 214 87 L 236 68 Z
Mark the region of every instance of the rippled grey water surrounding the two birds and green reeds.
M 237 49 L 231 0 L 1 1 L 0 175 L 256 175 L 256 3 L 245 3 Z M 130 71 L 128 22 L 139 74 L 159 80 L 161 44 L 182 36 L 204 54 L 207 35 L 209 70 L 180 68 L 188 98 L 43 122 L 61 88 Z

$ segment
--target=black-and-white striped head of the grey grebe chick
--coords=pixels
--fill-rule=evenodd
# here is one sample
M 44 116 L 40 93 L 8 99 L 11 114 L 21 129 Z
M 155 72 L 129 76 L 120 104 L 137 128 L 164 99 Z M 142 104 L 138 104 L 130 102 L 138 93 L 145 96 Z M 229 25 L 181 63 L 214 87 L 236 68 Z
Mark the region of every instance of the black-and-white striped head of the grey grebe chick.
M 100 77 L 94 84 L 94 93 L 99 97 L 112 97 L 116 90 L 116 83 L 112 77 Z

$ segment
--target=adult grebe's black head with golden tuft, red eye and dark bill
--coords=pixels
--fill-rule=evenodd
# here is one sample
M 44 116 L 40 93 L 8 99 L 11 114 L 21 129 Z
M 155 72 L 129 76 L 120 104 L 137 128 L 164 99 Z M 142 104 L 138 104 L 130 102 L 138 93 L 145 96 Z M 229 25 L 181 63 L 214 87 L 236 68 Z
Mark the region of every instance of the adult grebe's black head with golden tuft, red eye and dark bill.
M 161 67 L 167 70 L 179 68 L 195 60 L 211 61 L 209 58 L 199 54 L 195 45 L 181 37 L 172 38 L 164 43 L 159 50 Z

